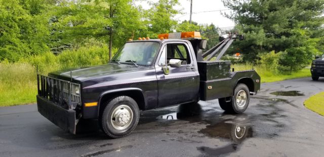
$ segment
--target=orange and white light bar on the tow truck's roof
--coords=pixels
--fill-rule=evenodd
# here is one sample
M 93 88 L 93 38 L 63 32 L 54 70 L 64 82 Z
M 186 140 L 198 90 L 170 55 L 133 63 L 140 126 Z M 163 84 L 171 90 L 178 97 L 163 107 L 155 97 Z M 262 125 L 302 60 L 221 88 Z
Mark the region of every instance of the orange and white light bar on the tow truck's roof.
M 200 32 L 158 34 L 159 39 L 201 39 Z

